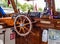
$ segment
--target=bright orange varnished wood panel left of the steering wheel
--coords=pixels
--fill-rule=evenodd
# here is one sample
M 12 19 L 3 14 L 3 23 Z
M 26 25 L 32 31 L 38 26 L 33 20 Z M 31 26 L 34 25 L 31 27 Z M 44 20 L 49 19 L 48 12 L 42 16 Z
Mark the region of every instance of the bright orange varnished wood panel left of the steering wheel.
M 4 23 L 4 25 L 13 26 L 14 20 L 11 17 L 2 17 L 0 18 L 0 23 Z

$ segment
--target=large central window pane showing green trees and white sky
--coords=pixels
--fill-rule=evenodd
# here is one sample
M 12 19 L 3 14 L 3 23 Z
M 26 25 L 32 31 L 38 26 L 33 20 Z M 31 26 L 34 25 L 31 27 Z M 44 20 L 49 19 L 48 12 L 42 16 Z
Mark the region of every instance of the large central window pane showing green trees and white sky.
M 20 11 L 27 12 L 28 9 L 30 11 L 43 11 L 46 6 L 44 0 L 34 0 L 34 1 L 26 1 L 26 0 L 17 0 L 17 7 Z

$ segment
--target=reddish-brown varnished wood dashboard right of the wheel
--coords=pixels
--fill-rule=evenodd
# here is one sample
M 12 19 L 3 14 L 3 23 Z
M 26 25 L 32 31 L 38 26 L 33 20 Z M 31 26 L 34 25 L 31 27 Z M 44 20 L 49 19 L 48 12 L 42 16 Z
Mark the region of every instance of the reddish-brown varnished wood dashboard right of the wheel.
M 39 26 L 41 28 L 54 28 L 54 29 L 60 29 L 60 19 L 47 19 L 47 18 L 32 18 L 35 21 L 37 21 L 36 26 Z M 45 21 L 45 23 L 42 23 L 41 21 Z M 50 24 L 46 23 L 50 22 Z

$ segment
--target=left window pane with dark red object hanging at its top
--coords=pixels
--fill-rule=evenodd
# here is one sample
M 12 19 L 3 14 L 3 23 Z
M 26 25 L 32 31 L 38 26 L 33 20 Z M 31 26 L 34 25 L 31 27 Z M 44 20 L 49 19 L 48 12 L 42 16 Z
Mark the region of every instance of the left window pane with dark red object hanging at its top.
M 8 4 L 9 3 L 9 4 Z M 14 13 L 11 2 L 8 0 L 0 0 L 0 7 L 7 13 Z

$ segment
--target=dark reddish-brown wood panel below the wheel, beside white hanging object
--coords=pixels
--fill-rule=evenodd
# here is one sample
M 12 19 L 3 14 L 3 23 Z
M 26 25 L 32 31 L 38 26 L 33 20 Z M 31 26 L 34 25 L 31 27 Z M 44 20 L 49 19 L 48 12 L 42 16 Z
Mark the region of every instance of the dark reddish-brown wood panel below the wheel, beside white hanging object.
M 47 42 L 42 42 L 42 30 L 39 27 L 33 27 L 32 33 L 25 37 L 21 37 L 16 34 L 16 44 L 47 44 Z

